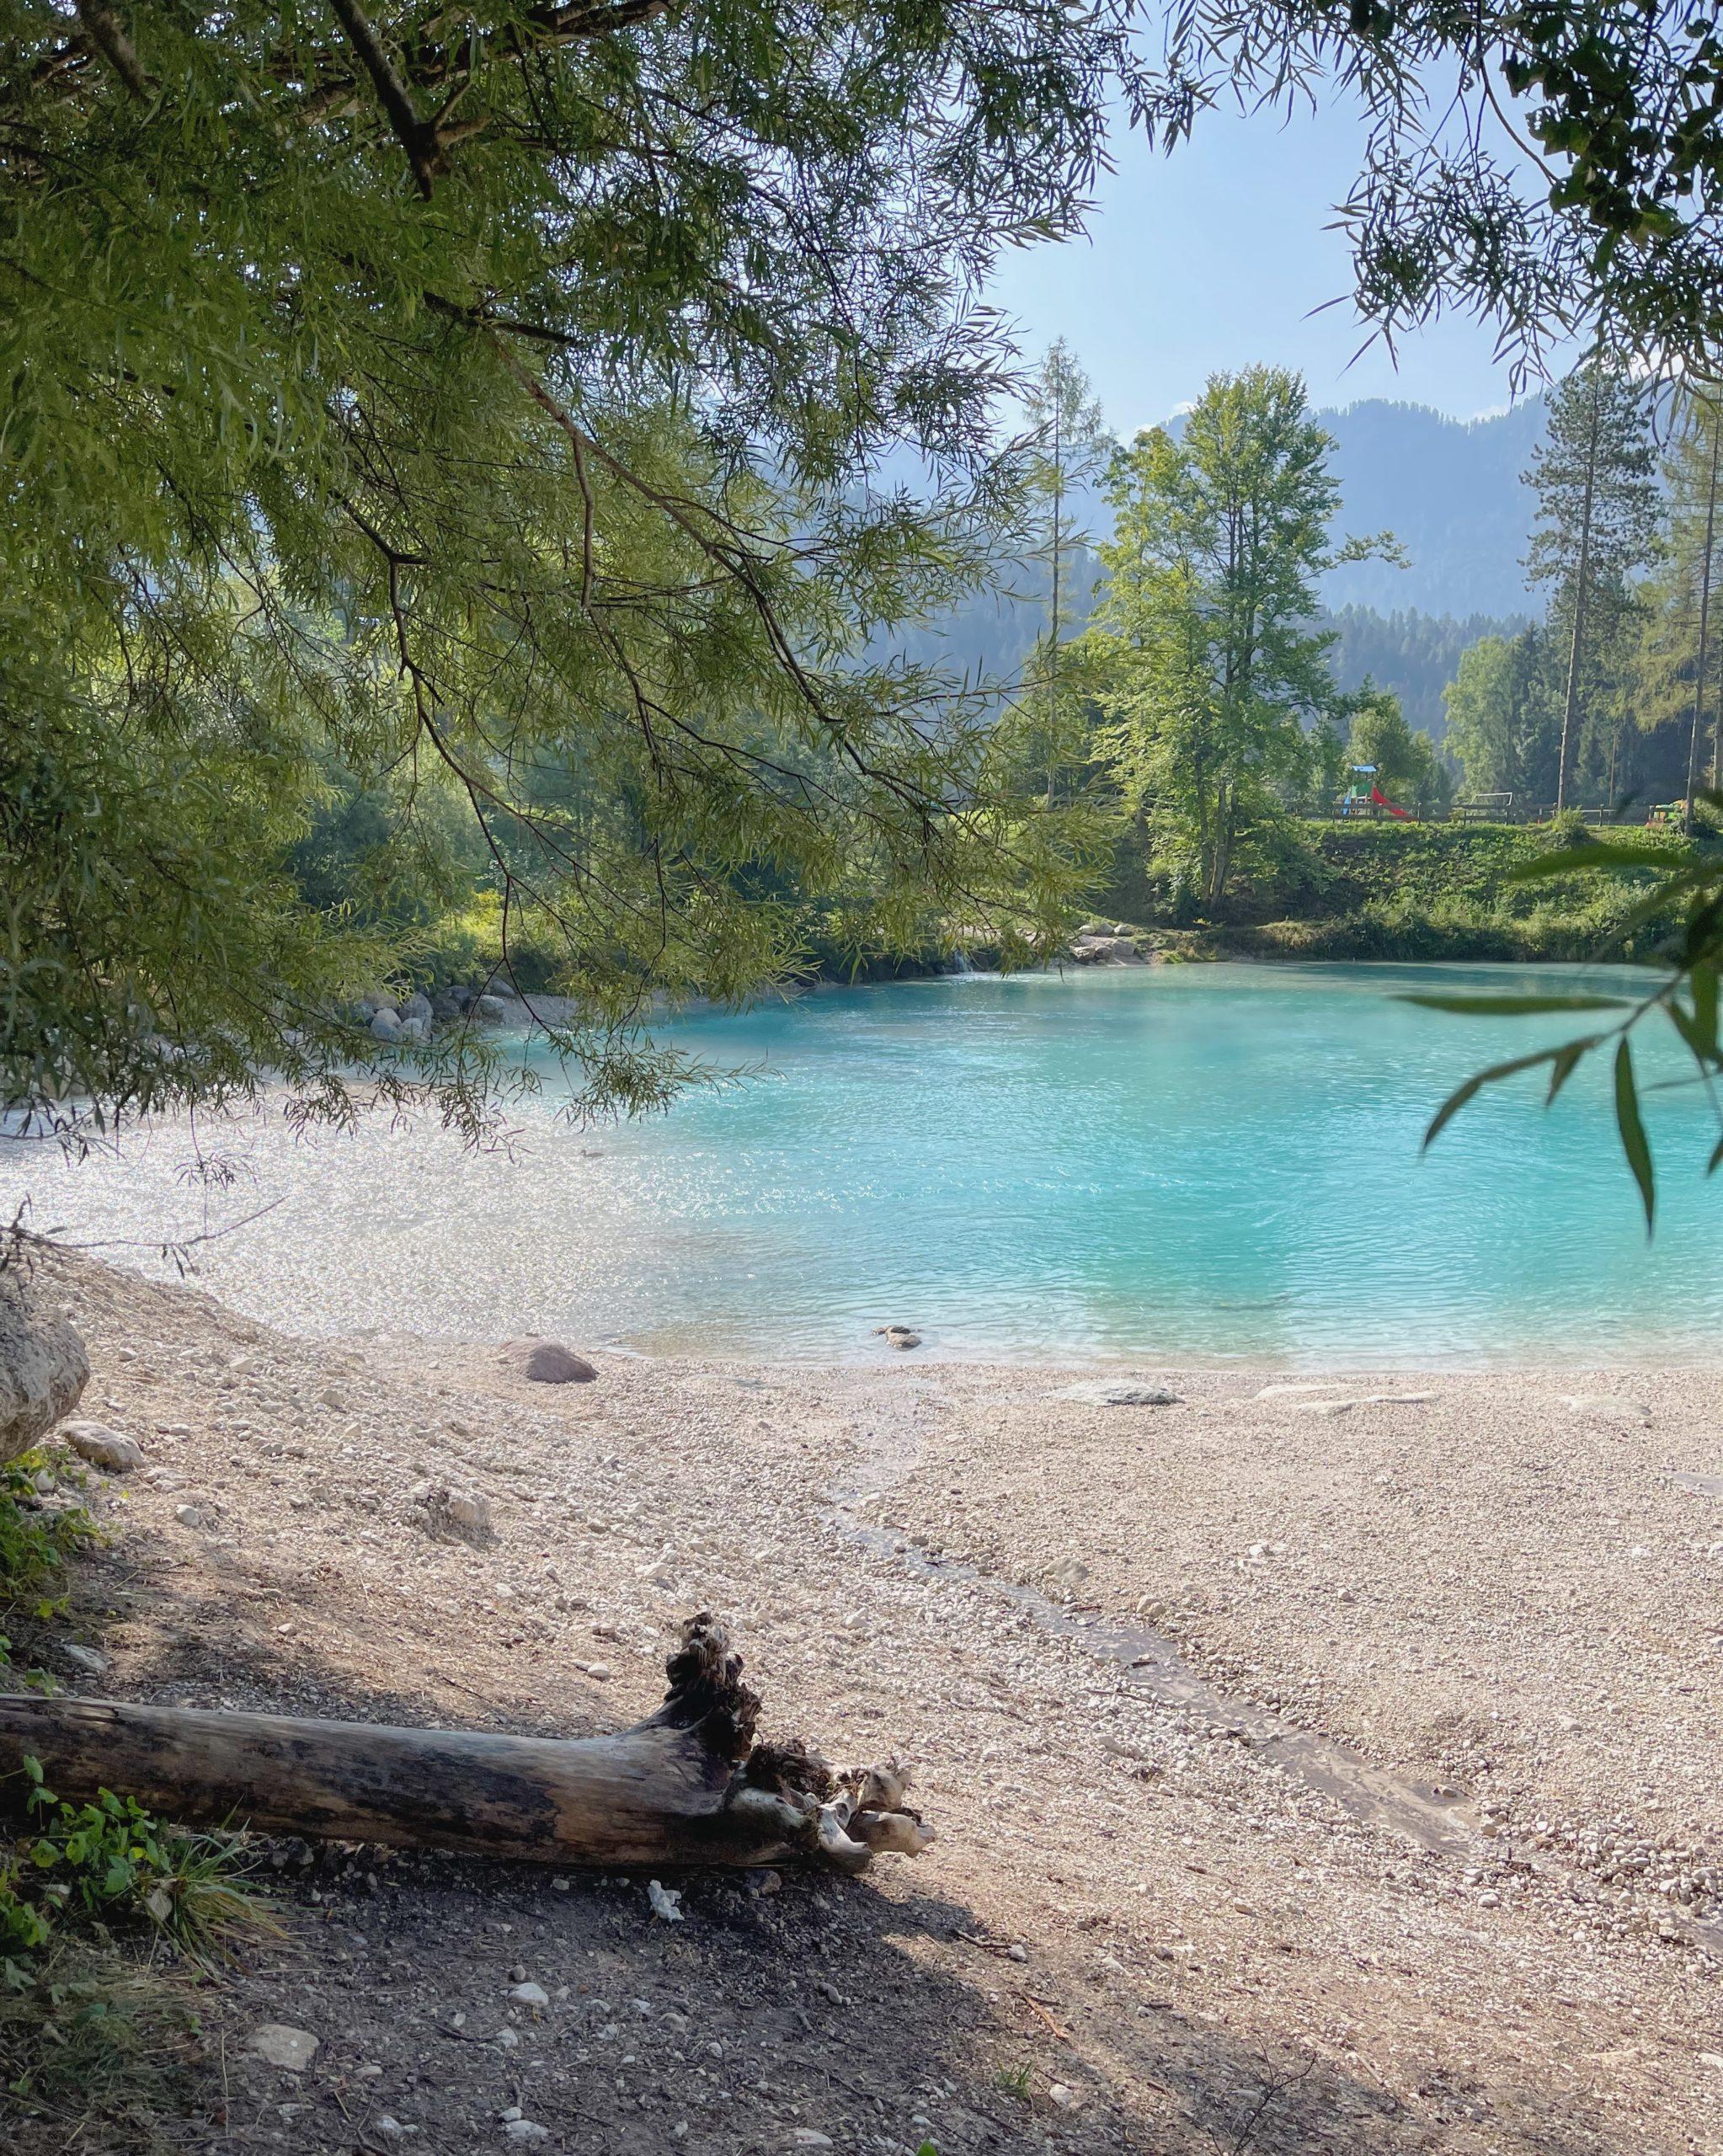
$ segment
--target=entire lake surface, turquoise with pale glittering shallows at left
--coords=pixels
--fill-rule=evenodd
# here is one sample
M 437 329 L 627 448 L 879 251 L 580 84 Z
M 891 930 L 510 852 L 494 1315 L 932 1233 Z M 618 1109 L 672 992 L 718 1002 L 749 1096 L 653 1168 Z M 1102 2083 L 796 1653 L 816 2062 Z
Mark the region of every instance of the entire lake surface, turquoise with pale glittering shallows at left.
M 1581 981 L 1643 987 L 1173 966 L 828 990 L 675 1028 L 744 1082 L 597 1132 L 546 1093 L 513 1158 L 421 1125 L 300 1143 L 265 1115 L 205 1128 L 239 1173 L 216 1199 L 183 1181 L 183 1125 L 82 1164 L 4 1145 L 0 1197 L 144 1240 L 280 1199 L 196 1255 L 211 1291 L 298 1330 L 832 1358 L 884 1354 L 891 1322 L 990 1358 L 1712 1358 L 1723 1184 L 1701 1177 L 1699 1093 L 1650 1102 L 1650 1246 L 1602 1069 L 1548 1115 L 1535 1078 L 1499 1089 L 1421 1151 L 1460 1078 L 1557 1035 L 1395 996 Z

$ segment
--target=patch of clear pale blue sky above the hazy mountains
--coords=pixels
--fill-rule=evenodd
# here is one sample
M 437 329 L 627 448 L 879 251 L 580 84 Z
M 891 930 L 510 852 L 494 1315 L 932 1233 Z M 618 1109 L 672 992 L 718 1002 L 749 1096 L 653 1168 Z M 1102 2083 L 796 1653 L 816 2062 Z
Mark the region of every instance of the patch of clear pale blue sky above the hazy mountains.
M 1361 127 L 1328 110 L 1210 112 L 1169 155 L 1115 138 L 1089 239 L 1014 250 L 990 298 L 1016 321 L 1024 354 L 1063 336 L 1087 367 L 1117 433 L 1164 420 L 1216 369 L 1296 367 L 1311 401 L 1363 397 L 1428 403 L 1453 418 L 1501 410 L 1507 367 L 1488 328 L 1441 321 L 1397 351 L 1371 345 L 1350 302 L 1341 233 L 1326 231 L 1352 188 Z M 1348 362 L 1352 364 L 1348 367 Z

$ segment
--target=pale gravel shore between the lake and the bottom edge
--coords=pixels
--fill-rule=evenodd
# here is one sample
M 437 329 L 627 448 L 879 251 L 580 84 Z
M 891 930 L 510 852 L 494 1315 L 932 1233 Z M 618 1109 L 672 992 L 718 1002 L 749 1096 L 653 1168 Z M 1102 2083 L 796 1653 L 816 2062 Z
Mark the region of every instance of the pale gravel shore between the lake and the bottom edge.
M 511 2109 L 625 2156 L 1714 2145 L 1717 1371 L 550 1388 L 91 1263 L 65 1294 L 84 1412 L 147 1451 L 97 1494 L 73 1688 L 574 1733 L 712 1606 L 768 1725 L 899 1751 L 940 1835 L 856 1884 L 692 1878 L 681 1925 L 636 1880 L 289 1865 L 175 2145 L 466 2152 Z M 431 1539 L 429 1483 L 492 1539 Z

